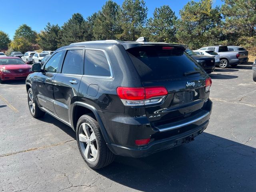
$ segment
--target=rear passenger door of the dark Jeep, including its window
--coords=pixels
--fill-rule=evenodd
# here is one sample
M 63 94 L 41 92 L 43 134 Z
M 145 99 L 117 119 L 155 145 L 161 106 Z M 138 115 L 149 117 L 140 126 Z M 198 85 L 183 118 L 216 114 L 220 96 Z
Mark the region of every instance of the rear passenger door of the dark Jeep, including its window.
M 70 122 L 70 108 L 77 101 L 83 63 L 84 49 L 67 50 L 61 72 L 54 78 L 54 108 L 66 122 Z

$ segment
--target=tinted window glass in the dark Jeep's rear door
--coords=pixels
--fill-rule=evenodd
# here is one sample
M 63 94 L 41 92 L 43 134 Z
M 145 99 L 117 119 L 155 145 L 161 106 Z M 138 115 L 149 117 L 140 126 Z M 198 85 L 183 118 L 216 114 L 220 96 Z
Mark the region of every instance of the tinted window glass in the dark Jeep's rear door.
M 82 55 L 83 50 L 68 50 L 61 73 L 82 75 Z

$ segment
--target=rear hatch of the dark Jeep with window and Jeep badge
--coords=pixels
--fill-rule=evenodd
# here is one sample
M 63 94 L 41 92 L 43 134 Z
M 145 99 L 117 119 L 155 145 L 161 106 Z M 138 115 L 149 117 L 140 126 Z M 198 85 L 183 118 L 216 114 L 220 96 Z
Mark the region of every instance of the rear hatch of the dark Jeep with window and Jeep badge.
M 127 49 L 144 88 L 164 86 L 168 94 L 157 104 L 145 104 L 151 126 L 164 128 L 207 113 L 209 76 L 186 52 L 174 45 L 142 45 Z M 146 102 L 145 102 L 146 103 Z

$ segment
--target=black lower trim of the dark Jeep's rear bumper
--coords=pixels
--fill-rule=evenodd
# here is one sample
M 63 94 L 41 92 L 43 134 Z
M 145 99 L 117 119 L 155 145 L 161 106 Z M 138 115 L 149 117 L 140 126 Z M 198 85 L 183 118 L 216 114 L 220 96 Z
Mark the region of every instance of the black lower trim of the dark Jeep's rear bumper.
M 204 122 L 204 124 L 202 124 L 201 126 L 198 126 L 197 128 L 194 128 L 188 132 L 185 132 L 178 136 L 173 136 L 170 138 L 153 141 L 150 144 L 148 144 L 148 146 L 142 147 L 142 148 L 128 148 L 128 147 L 115 145 L 115 144 L 107 144 L 107 145 L 108 145 L 108 148 L 110 148 L 110 150 L 116 155 L 130 156 L 130 157 L 136 157 L 136 158 L 149 156 L 150 154 L 153 154 L 155 152 L 174 148 L 183 143 L 194 140 L 196 136 L 201 134 L 206 129 L 208 124 L 209 124 L 209 120 Z

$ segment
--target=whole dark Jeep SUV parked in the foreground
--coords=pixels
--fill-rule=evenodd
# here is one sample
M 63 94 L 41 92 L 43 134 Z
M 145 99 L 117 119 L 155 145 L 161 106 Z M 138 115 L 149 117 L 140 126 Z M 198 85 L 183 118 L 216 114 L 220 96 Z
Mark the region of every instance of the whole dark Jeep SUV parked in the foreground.
M 212 81 L 183 46 L 103 40 L 59 48 L 26 80 L 34 118 L 70 126 L 91 168 L 194 140 L 210 119 Z

